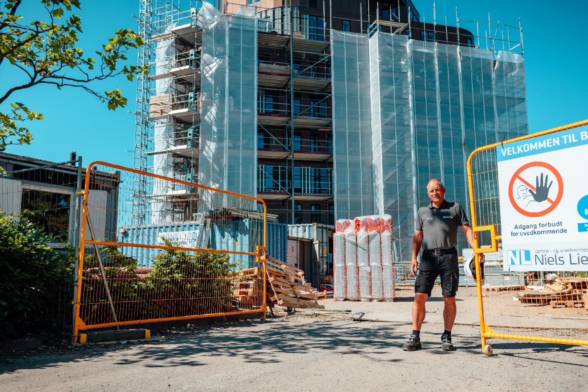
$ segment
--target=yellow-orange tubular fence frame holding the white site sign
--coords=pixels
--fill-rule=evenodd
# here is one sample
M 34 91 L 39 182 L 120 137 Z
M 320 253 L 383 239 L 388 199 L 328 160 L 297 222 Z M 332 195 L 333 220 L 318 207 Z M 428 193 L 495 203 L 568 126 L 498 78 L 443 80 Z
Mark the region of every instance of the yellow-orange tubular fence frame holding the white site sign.
M 556 128 L 551 128 L 547 130 L 543 130 L 541 132 L 530 133 L 529 135 L 520 136 L 519 138 L 513 138 L 506 140 L 505 142 L 499 143 L 492 143 L 490 145 L 482 146 L 475 149 L 467 159 L 467 185 L 469 187 L 469 197 L 470 197 L 470 209 L 472 210 L 472 227 L 474 232 L 479 231 L 476 230 L 478 227 L 476 222 L 476 199 L 474 195 L 474 185 L 473 185 L 473 171 L 472 171 L 472 159 L 474 156 L 482 151 L 490 150 L 496 148 L 500 145 L 505 145 L 509 143 L 519 142 L 520 140 L 532 139 L 536 138 L 537 136 L 549 135 L 550 133 L 560 132 L 562 130 L 578 128 L 580 126 L 588 125 L 588 119 L 581 120 L 578 122 L 570 123 L 567 125 L 558 126 Z M 486 229 L 486 228 L 484 228 Z M 487 230 L 487 229 L 486 229 Z M 501 240 L 502 236 L 497 236 L 496 232 L 492 233 L 492 243 L 496 244 L 498 240 Z M 480 249 L 478 246 L 478 236 L 474 236 L 474 252 L 475 252 L 475 259 L 476 259 L 476 271 L 480 270 L 480 256 L 479 253 L 487 252 L 488 250 L 485 248 Z M 527 336 L 527 335 L 513 335 L 513 334 L 497 334 L 490 329 L 489 326 L 484 321 L 484 303 L 482 298 L 482 280 L 479 279 L 480 276 L 477 274 L 476 279 L 476 286 L 477 286 L 477 297 L 478 297 L 478 306 L 480 311 L 480 336 L 482 337 L 482 351 L 485 351 L 486 347 L 486 338 L 494 337 L 500 339 L 515 339 L 515 340 L 528 340 L 528 341 L 543 341 L 546 343 L 562 343 L 562 344 L 576 344 L 581 346 L 588 346 L 588 340 L 577 340 L 577 339 L 553 339 L 550 337 L 539 337 L 539 336 Z M 490 347 L 490 353 L 492 352 L 492 348 Z

